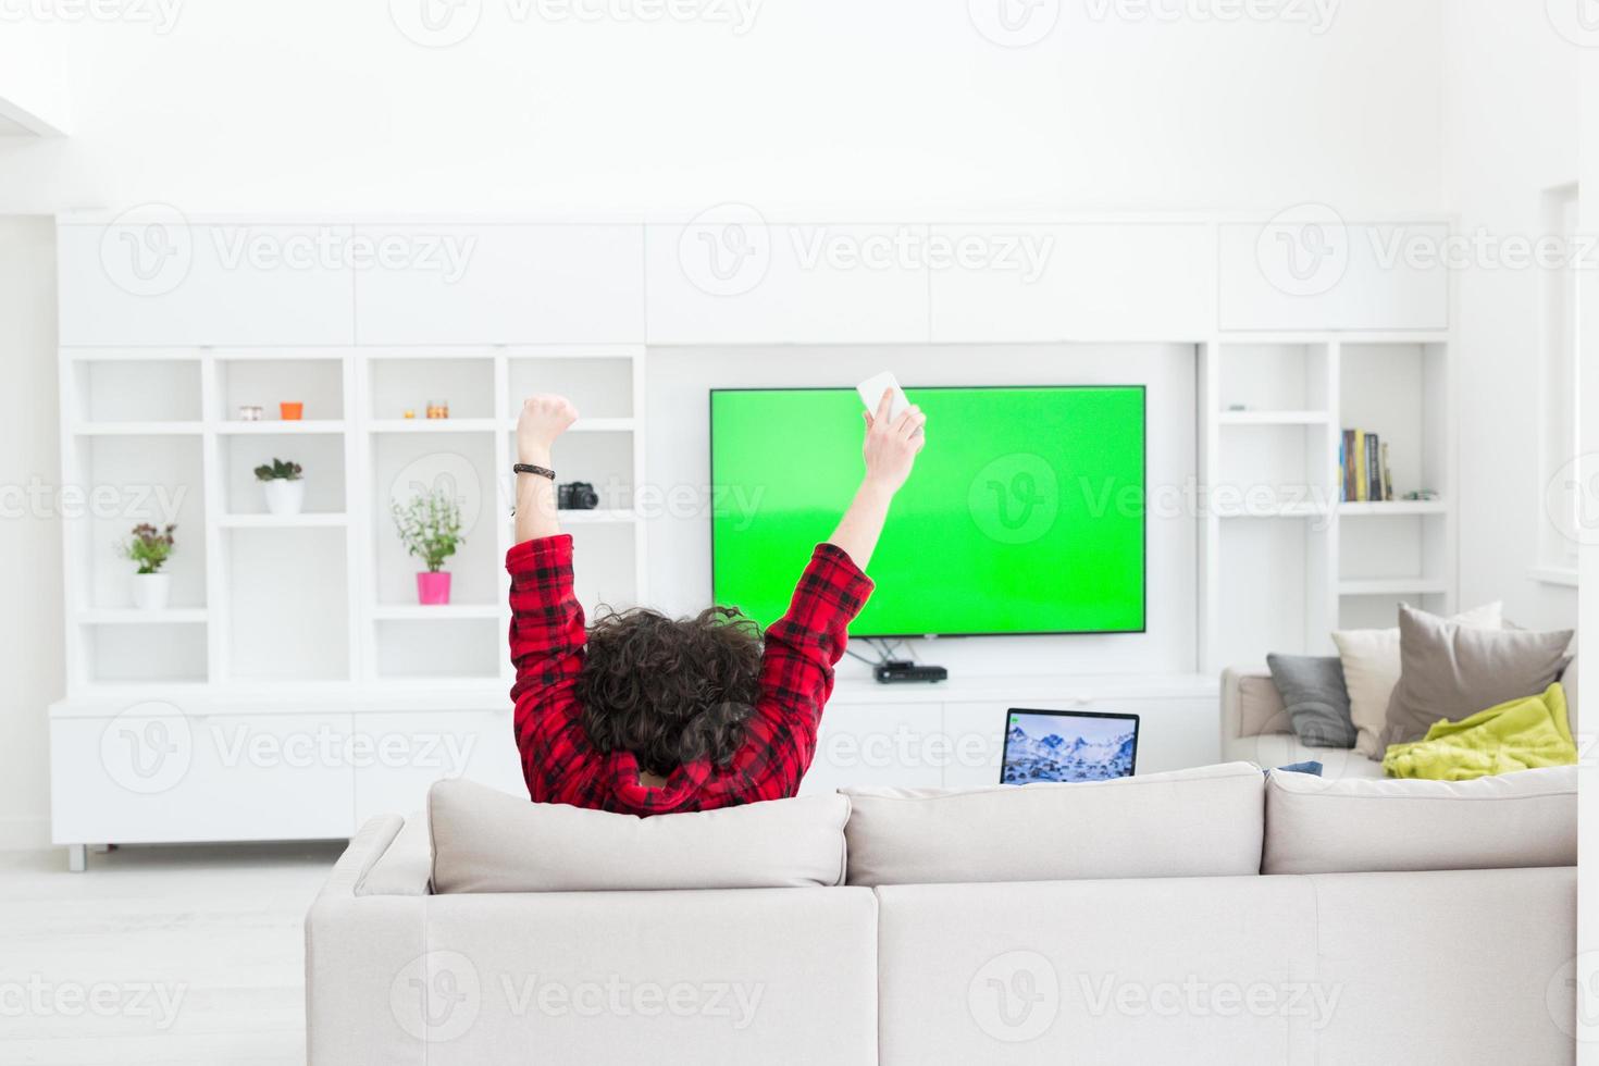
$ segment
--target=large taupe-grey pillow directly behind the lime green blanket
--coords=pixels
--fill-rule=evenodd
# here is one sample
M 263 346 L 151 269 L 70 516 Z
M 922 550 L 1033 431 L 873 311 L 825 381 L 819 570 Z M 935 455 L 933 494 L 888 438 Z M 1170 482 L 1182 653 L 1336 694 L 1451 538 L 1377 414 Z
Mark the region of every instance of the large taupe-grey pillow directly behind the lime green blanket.
M 1420 740 L 1438 721 L 1537 695 L 1570 662 L 1572 630 L 1474 630 L 1399 606 L 1399 684 L 1383 745 Z

